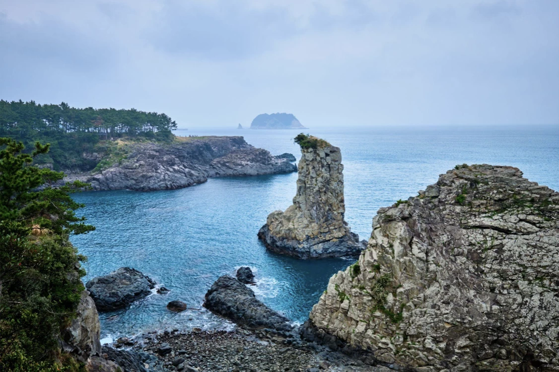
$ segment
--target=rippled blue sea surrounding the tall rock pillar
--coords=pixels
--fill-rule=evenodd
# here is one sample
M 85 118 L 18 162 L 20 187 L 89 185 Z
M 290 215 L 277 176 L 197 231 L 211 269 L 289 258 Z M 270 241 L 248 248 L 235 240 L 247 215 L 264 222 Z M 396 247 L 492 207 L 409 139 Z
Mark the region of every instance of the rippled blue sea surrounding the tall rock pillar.
M 346 220 L 361 239 L 371 234 L 378 208 L 417 195 L 456 164 L 517 166 L 524 177 L 559 189 L 559 128 L 534 130 L 338 129 L 305 130 L 342 149 Z M 191 130 L 177 135 L 244 136 L 273 155 L 300 158 L 292 130 Z M 130 266 L 170 292 L 152 294 L 129 309 L 102 313 L 102 337 L 137 335 L 164 328 L 230 328 L 202 308 L 206 291 L 224 274 L 250 266 L 257 297 L 296 322 L 304 322 L 328 279 L 352 260 L 304 261 L 268 252 L 257 232 L 268 213 L 286 209 L 297 174 L 212 178 L 181 190 L 101 191 L 75 195 L 86 204 L 78 214 L 97 227 L 72 237 L 88 256 L 84 283 Z M 179 299 L 182 313 L 165 305 Z

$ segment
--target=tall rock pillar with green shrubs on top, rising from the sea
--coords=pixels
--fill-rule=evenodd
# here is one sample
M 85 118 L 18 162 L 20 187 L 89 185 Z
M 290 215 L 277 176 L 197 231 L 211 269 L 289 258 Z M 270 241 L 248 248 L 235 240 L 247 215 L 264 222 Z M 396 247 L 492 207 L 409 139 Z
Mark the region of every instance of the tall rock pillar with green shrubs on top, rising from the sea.
M 302 156 L 293 205 L 270 213 L 258 237 L 269 250 L 301 259 L 358 255 L 364 245 L 344 221 L 340 149 L 302 133 L 295 142 Z

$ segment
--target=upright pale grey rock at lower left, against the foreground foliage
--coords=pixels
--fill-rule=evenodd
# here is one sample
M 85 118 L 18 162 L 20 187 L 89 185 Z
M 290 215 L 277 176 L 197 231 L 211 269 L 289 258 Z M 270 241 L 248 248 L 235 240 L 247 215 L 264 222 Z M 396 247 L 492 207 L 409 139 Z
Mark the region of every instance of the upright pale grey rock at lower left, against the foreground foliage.
M 100 333 L 101 325 L 95 303 L 89 296 L 89 292 L 83 290 L 76 309 L 76 317 L 61 333 L 63 350 L 87 363 L 90 356 L 101 351 Z

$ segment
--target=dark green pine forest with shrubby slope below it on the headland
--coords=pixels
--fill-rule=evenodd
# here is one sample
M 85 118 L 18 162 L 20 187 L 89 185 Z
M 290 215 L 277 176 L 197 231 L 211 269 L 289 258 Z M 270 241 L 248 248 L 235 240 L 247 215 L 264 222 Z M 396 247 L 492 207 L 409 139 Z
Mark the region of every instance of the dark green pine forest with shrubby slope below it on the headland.
M 164 113 L 115 108 L 75 108 L 68 103 L 0 100 L 0 137 L 49 143 L 50 151 L 36 159 L 54 169 L 93 169 L 97 161 L 83 156 L 103 140 L 152 139 L 168 141 L 177 123 Z

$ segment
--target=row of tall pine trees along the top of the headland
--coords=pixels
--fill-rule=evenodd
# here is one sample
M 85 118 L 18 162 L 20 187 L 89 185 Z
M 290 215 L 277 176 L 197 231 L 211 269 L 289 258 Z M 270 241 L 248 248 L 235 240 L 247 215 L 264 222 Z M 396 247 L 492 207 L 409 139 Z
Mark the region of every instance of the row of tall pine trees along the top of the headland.
M 114 139 L 176 128 L 177 123 L 164 113 L 135 108 L 75 108 L 65 102 L 41 105 L 21 99 L 0 101 L 0 136 L 16 139 L 29 139 L 41 132 L 97 133 L 101 139 Z

